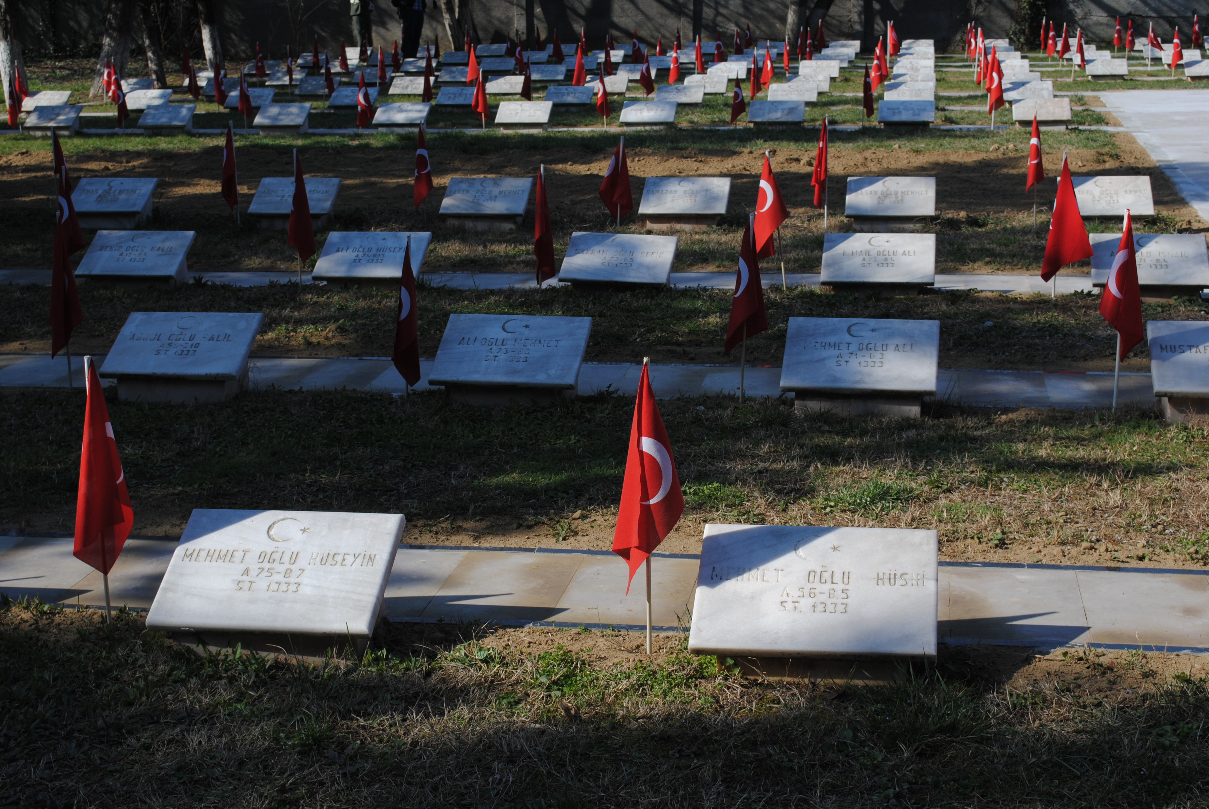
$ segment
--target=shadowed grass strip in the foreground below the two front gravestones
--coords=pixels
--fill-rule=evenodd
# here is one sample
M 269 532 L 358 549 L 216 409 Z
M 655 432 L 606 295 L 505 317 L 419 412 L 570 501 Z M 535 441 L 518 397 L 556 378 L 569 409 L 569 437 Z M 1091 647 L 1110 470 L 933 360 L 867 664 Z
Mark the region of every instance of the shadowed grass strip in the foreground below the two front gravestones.
M 647 658 L 624 632 L 394 625 L 295 663 L 102 622 L 0 607 L 15 805 L 1182 807 L 1209 775 L 1179 655 L 942 647 L 899 686 L 825 689 L 677 636 Z

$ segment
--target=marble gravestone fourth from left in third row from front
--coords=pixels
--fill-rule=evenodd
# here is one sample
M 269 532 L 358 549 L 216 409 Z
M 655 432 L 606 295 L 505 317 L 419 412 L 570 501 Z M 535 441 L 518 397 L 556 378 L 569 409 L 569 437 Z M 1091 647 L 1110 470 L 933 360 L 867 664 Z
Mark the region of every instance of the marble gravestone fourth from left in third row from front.
M 826 233 L 820 283 L 915 295 L 936 283 L 935 233 Z

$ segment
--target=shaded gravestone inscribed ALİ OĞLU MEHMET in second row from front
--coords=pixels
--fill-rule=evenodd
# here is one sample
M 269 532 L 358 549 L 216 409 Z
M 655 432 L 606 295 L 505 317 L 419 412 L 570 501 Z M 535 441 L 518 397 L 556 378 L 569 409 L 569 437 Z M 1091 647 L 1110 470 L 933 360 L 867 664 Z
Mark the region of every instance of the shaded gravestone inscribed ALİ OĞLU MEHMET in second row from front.
M 586 317 L 451 314 L 428 383 L 482 405 L 573 398 L 591 329 Z

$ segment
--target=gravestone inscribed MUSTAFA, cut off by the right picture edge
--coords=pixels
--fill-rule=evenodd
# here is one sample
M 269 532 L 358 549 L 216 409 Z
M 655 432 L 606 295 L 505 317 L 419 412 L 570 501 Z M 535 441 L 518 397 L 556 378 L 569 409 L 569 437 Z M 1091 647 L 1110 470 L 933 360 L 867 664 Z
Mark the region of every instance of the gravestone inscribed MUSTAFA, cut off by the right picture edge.
M 1202 238 L 1202 237 L 1197 237 Z M 1150 380 L 1169 422 L 1209 416 L 1209 323 L 1147 320 Z

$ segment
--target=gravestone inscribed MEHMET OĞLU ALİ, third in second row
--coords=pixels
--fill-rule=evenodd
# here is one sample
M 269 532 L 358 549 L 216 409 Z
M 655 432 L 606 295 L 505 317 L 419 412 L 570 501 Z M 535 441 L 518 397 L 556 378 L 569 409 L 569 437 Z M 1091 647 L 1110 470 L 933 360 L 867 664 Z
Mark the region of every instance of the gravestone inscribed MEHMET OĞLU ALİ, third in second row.
M 919 417 L 936 395 L 939 320 L 789 318 L 781 389 L 794 408 Z

